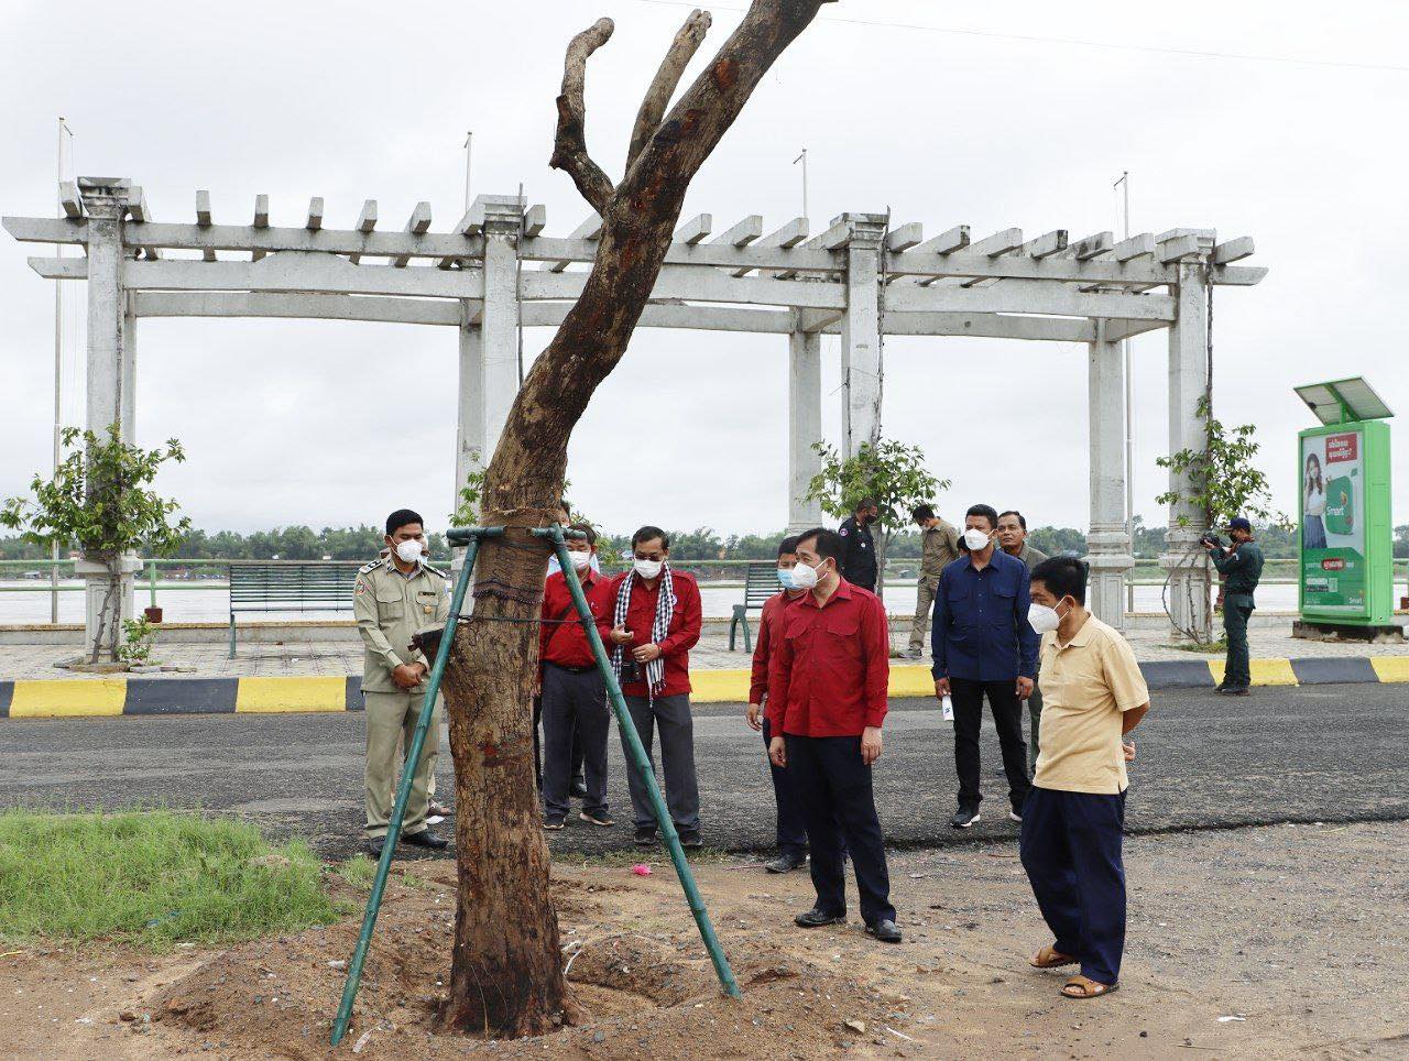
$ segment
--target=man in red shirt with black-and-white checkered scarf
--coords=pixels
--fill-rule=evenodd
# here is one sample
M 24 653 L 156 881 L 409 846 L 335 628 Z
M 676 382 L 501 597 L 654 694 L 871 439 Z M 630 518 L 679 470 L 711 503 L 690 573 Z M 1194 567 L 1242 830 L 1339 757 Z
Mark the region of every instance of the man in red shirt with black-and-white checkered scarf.
M 631 552 L 631 569 L 612 581 L 612 665 L 648 758 L 654 730 L 661 733 L 665 802 L 681 844 L 702 847 L 690 717 L 690 648 L 700 640 L 700 590 L 692 576 L 671 569 L 671 535 L 659 527 L 633 534 Z M 624 736 L 621 747 L 624 751 Z M 635 769 L 628 768 L 626 776 L 635 843 L 650 847 L 655 843 L 655 814 Z

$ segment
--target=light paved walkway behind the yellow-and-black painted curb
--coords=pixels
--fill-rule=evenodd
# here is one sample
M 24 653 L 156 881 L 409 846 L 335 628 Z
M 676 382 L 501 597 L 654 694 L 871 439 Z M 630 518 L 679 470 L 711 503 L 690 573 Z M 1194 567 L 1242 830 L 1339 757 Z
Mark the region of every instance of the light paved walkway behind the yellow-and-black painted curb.
M 909 623 L 898 626 L 896 644 L 905 644 Z M 1285 624 L 1253 627 L 1248 630 L 1253 657 L 1258 659 L 1301 659 L 1308 657 L 1409 657 L 1409 644 L 1367 645 L 1361 643 L 1327 644 L 1323 641 L 1301 641 L 1291 635 L 1291 619 Z M 1169 645 L 1169 634 L 1164 630 L 1131 630 L 1130 644 L 1141 662 L 1164 659 L 1209 659 L 1199 652 L 1189 652 Z M 750 657 L 743 651 L 728 651 L 728 633 L 723 626 L 707 626 L 700 644 L 690 651 L 690 668 L 695 671 L 747 669 Z M 32 681 L 38 678 L 101 678 L 101 675 L 79 675 L 59 669 L 56 664 L 72 659 L 76 645 L 3 645 L 0 647 L 0 681 Z M 279 678 L 279 676 L 345 676 L 362 672 L 362 645 L 352 637 L 330 641 L 306 641 L 297 644 L 258 644 L 247 641 L 240 645 L 240 654 L 227 658 L 224 644 L 170 644 L 162 645 L 154 659 L 179 666 L 196 668 L 200 678 Z M 926 659 L 927 661 L 927 659 Z M 192 674 L 149 674 L 144 678 L 192 678 Z

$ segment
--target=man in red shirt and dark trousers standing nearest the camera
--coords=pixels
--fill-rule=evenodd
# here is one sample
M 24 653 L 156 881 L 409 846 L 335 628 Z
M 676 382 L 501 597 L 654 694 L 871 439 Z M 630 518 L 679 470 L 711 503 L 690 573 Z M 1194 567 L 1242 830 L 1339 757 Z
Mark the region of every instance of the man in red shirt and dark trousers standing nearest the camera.
M 890 631 L 875 593 L 838 573 L 845 542 L 819 527 L 797 540 L 793 583 L 810 590 L 788 604 L 768 682 L 769 758 L 785 767 L 812 845 L 813 909 L 802 929 L 847 920 L 841 833 L 851 850 L 867 931 L 900 943 L 890 905 L 885 837 L 871 789 L 890 678 Z

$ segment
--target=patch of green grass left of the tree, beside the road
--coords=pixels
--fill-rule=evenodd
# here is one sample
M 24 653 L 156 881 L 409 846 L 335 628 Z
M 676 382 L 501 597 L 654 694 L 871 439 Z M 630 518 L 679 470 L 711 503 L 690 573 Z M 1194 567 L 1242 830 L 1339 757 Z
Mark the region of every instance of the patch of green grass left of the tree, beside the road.
M 0 812 L 0 940 L 221 944 L 341 916 L 300 840 L 169 810 Z

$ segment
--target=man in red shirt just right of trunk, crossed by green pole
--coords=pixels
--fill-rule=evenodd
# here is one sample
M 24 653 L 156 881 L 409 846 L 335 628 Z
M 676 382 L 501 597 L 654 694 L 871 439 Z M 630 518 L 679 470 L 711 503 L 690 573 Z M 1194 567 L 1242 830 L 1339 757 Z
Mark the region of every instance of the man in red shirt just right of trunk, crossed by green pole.
M 612 585 L 592 569 L 597 535 L 585 523 L 572 524 L 586 538 L 568 538 L 572 566 L 592 609 L 602 640 L 612 633 Z M 588 795 L 583 821 L 610 826 L 607 814 L 607 688 L 597 671 L 588 631 L 578 621 L 566 576 L 555 571 L 542 590 L 542 623 L 538 627 L 538 686 L 542 693 L 542 827 L 562 829 L 568 817 L 572 781 L 573 734 L 582 741 Z

